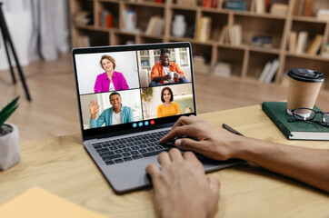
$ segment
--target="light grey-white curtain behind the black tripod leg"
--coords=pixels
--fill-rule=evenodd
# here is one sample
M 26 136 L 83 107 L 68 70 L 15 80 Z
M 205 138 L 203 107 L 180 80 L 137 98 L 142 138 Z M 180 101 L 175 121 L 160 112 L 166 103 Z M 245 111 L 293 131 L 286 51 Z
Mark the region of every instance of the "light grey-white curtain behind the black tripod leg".
M 20 64 L 54 60 L 70 49 L 68 1 L 5 0 L 2 7 Z M 9 67 L 3 43 L 1 35 L 0 70 Z

